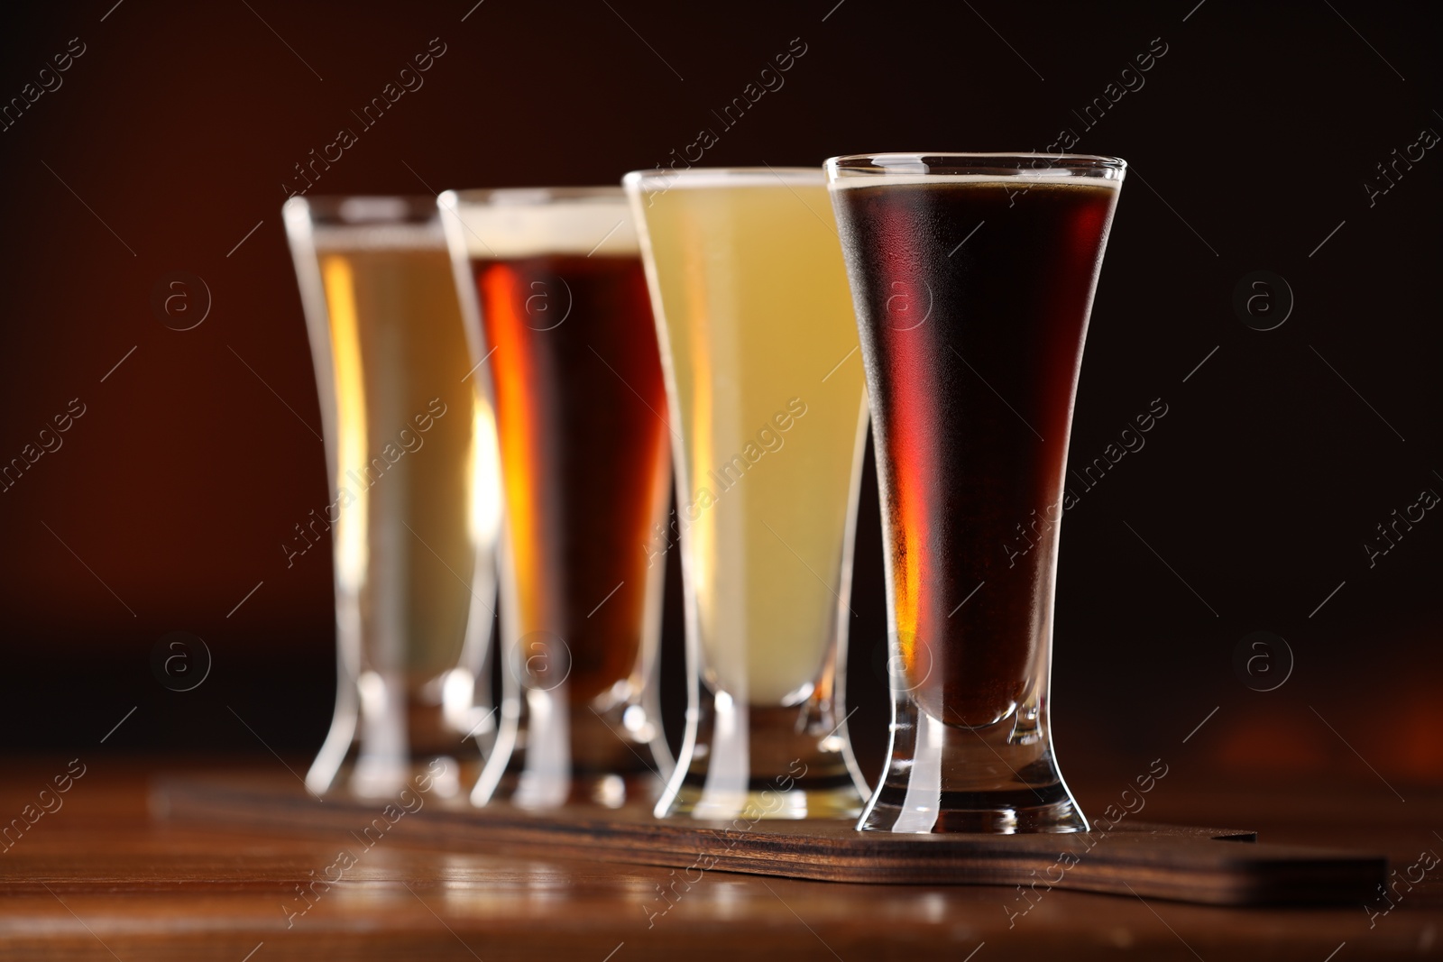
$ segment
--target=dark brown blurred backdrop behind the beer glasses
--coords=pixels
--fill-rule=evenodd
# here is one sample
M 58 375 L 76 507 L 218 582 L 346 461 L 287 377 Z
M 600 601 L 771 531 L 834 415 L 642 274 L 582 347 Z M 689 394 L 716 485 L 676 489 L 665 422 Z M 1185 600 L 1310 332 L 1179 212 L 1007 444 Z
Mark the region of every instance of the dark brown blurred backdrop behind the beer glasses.
M 615 182 L 719 128 L 710 111 L 792 37 L 807 53 L 785 87 L 720 131 L 704 163 L 1042 150 L 1061 127 L 1081 130 L 1071 111 L 1162 37 L 1146 87 L 1076 147 L 1133 167 L 1074 456 L 1098 454 L 1153 398 L 1169 414 L 1068 513 L 1053 687 L 1063 763 L 1162 754 L 1238 779 L 1364 766 L 1398 787 L 1443 777 L 1443 518 L 1429 513 L 1375 568 L 1361 547 L 1420 489 L 1443 492 L 1443 157 L 1429 151 L 1375 206 L 1362 186 L 1423 127 L 1443 130 L 1423 7 L 486 0 L 463 20 L 472 3 L 101 0 L 3 14 L 0 98 L 71 37 L 87 52 L 0 133 L 0 460 L 71 398 L 87 412 L 0 493 L 0 747 L 319 746 L 330 560 L 310 552 L 287 570 L 280 544 L 326 502 L 326 480 L 280 185 L 338 127 L 356 127 L 349 110 L 431 37 L 447 49 L 424 87 L 361 133 L 317 193 Z M 214 297 L 189 332 L 150 307 L 175 270 Z M 1271 332 L 1231 306 L 1255 270 L 1296 296 Z M 874 487 L 861 528 L 853 731 L 874 772 L 886 724 Z M 214 653 L 195 691 L 150 672 L 172 630 Z M 1257 630 L 1284 637 L 1296 662 L 1271 692 L 1234 669 Z

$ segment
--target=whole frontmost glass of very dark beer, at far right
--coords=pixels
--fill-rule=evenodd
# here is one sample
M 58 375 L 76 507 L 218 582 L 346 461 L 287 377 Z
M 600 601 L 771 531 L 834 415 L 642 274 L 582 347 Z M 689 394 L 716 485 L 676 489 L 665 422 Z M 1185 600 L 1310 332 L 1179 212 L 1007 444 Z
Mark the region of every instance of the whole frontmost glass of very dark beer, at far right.
M 827 162 L 887 547 L 893 723 L 859 829 L 1072 832 L 1052 604 L 1072 402 L 1126 164 Z

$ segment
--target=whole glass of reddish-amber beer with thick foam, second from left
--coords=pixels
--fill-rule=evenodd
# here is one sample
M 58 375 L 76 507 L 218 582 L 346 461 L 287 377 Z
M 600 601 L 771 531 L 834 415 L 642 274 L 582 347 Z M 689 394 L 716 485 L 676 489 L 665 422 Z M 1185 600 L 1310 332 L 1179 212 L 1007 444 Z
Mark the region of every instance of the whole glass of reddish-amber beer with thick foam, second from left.
M 661 358 L 619 187 L 440 196 L 472 362 L 495 400 L 502 712 L 472 802 L 651 803 L 671 467 Z

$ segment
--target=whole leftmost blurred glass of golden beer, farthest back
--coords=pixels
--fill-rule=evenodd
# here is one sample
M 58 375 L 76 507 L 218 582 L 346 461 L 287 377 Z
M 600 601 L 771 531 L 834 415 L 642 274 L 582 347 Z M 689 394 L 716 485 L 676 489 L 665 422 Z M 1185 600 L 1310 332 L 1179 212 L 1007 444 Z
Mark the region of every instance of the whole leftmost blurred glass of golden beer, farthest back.
M 332 492 L 283 550 L 300 564 L 329 534 L 336 590 L 336 708 L 306 786 L 322 793 L 346 766 L 354 793 L 390 796 L 427 759 L 476 770 L 494 733 L 495 427 L 466 376 L 434 199 L 293 198 L 283 212 Z M 459 792 L 460 766 L 444 770 L 439 790 Z

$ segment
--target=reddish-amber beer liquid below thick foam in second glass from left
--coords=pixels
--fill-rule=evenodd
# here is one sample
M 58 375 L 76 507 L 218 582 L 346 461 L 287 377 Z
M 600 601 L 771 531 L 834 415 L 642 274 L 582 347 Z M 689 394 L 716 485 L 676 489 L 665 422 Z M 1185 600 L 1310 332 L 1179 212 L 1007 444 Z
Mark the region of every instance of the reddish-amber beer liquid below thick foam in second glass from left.
M 638 257 L 473 260 L 530 684 L 583 705 L 636 668 L 667 394 Z

